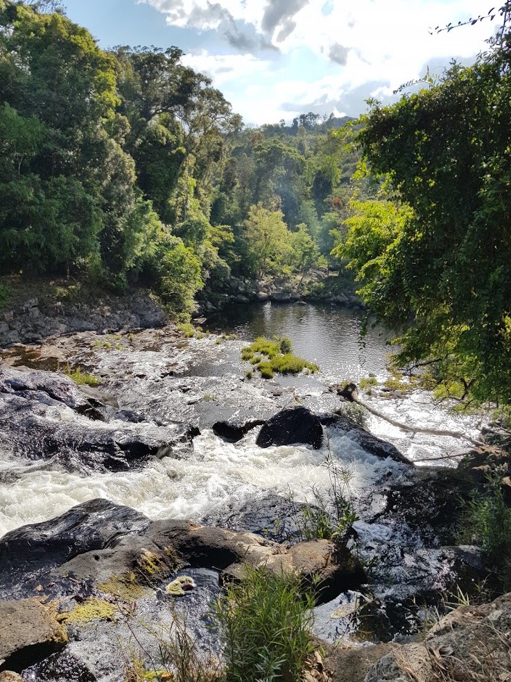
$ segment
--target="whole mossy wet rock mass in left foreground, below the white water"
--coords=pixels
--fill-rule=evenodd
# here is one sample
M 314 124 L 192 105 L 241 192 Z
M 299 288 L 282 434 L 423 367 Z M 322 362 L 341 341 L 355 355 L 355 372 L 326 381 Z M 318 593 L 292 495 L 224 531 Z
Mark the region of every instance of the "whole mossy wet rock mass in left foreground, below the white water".
M 119 680 L 119 658 L 128 654 L 120 642 L 135 633 L 146 653 L 157 650 L 143 621 L 151 630 L 173 622 L 174 599 L 165 586 L 177 576 L 199 585 L 191 599 L 183 597 L 182 608 L 200 630 L 220 583 L 243 579 L 247 563 L 279 574 L 295 571 L 304 585 L 319 576 L 319 601 L 358 585 L 364 577 L 358 560 L 333 550 L 327 540 L 286 549 L 243 531 L 150 522 L 131 508 L 93 500 L 0 540 L 0 585 L 10 598 L 0 602 L 0 615 L 3 623 L 12 621 L 10 633 L 1 630 L 0 658 L 9 669 L 30 669 L 36 679 L 52 682 Z M 68 636 L 67 648 L 58 651 Z M 51 647 L 32 648 L 47 643 Z

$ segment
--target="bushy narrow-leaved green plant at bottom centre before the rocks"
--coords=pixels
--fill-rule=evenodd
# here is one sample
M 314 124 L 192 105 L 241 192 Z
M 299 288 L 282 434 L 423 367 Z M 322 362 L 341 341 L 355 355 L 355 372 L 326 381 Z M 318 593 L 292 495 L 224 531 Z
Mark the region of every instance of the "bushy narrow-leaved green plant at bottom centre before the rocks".
M 295 574 L 246 566 L 242 583 L 229 585 L 212 613 L 224 644 L 226 681 L 302 679 L 313 651 L 313 605 Z

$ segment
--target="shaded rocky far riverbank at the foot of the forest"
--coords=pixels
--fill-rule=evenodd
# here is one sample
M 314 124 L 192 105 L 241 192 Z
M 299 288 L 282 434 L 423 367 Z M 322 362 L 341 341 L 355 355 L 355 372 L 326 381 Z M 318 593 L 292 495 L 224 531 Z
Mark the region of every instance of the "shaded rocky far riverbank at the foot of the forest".
M 305 278 L 229 278 L 222 293 L 200 294 L 194 319 L 248 303 L 323 301 L 360 310 L 349 278 L 314 271 Z M 162 302 L 150 290 L 126 294 L 107 292 L 97 283 L 74 280 L 3 277 L 0 281 L 0 348 L 17 343 L 40 343 L 80 331 L 117 332 L 157 328 L 169 322 Z

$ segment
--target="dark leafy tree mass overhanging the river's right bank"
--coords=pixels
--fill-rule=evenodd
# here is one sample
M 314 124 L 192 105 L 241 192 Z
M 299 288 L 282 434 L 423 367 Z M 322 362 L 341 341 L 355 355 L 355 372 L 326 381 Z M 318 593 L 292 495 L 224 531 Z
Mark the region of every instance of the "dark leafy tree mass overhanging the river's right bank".
M 432 363 L 454 397 L 510 404 L 511 3 L 499 14 L 474 65 L 371 103 L 357 142 L 380 201 L 352 205 L 334 253 L 398 329 L 399 365 Z

